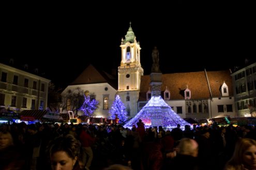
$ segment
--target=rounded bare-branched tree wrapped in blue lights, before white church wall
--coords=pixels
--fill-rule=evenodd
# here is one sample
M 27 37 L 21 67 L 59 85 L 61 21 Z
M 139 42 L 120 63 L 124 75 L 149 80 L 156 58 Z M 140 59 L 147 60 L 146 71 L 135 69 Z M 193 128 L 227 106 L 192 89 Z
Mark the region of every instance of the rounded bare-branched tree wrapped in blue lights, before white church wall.
M 91 99 L 91 97 L 84 95 L 84 103 L 80 107 L 79 111 L 83 111 L 84 115 L 91 116 L 93 112 L 97 109 L 99 101 L 96 99 Z

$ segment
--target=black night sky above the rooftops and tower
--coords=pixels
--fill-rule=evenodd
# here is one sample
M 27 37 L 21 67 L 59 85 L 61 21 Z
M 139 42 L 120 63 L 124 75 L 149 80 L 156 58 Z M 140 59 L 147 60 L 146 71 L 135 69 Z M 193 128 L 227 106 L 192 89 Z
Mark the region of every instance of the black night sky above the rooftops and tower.
M 177 8 L 151 4 L 143 10 L 12 9 L 2 16 L 1 60 L 16 58 L 39 67 L 44 77 L 62 85 L 72 82 L 89 63 L 110 72 L 121 61 L 119 45 L 130 21 L 142 48 L 144 75 L 150 74 L 154 46 L 163 73 L 233 69 L 245 58 L 255 60 L 252 10 L 210 3 L 190 8 L 191 4 L 180 2 Z

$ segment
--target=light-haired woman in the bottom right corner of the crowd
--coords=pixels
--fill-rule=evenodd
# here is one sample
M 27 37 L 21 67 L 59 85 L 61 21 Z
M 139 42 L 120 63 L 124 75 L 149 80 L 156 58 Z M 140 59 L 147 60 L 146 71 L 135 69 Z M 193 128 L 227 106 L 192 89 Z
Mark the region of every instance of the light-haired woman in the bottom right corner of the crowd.
M 227 162 L 225 170 L 256 169 L 256 141 L 242 138 L 236 142 L 232 158 Z

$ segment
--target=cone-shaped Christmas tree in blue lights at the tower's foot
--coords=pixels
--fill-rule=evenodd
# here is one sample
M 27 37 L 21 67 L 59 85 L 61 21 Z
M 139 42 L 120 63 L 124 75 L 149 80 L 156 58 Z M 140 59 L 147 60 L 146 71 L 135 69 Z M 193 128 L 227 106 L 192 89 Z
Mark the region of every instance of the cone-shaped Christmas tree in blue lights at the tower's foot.
M 121 124 L 127 120 L 128 116 L 126 107 L 119 95 L 115 96 L 115 101 L 113 102 L 109 113 L 111 114 L 109 116 L 110 119 L 114 120 L 117 116 L 119 118 L 119 123 Z

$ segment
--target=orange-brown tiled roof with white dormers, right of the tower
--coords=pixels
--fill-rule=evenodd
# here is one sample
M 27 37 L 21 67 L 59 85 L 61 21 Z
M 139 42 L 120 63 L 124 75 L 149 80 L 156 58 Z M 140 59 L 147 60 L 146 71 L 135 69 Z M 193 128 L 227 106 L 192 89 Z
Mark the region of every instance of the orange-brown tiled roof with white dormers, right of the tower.
M 233 95 L 232 77 L 230 71 L 213 71 L 206 72 L 212 90 L 213 97 L 220 96 L 220 87 L 225 81 L 229 87 L 229 95 Z M 141 91 L 139 100 L 146 99 L 150 76 L 141 77 Z M 189 73 L 172 73 L 162 74 L 161 91 L 165 91 L 166 87 L 170 91 L 170 99 L 184 99 L 184 90 L 191 91 L 191 99 L 210 98 L 210 91 L 207 84 L 205 72 L 189 72 Z

